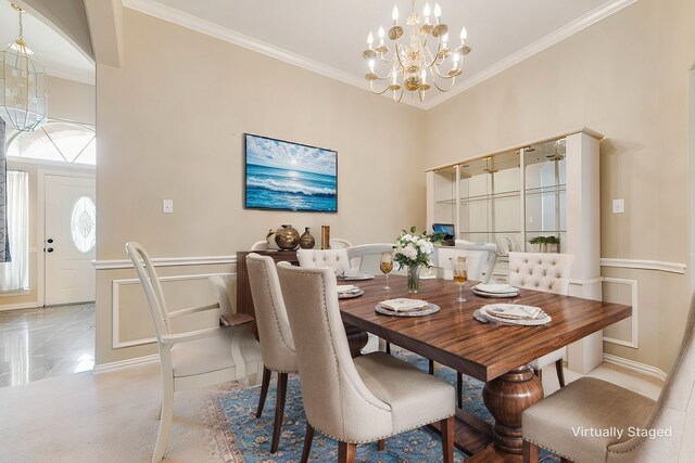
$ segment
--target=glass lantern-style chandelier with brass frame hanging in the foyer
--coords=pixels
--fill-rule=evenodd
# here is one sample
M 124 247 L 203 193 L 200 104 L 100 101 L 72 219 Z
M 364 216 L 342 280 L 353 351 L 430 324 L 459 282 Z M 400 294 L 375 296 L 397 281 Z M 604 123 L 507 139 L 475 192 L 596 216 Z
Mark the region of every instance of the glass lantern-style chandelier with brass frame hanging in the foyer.
M 24 41 L 22 14 L 25 11 L 14 3 L 12 8 L 20 15 L 20 37 L 0 57 L 0 117 L 10 127 L 33 131 L 47 120 L 46 73 Z

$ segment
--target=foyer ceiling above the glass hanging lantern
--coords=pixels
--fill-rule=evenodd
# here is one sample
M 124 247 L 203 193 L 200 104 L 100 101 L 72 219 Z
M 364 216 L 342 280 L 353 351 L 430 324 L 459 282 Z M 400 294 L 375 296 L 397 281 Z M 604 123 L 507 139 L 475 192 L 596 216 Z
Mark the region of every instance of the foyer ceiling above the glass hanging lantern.
M 94 65 L 63 35 L 28 13 L 22 18 L 24 40 L 50 75 L 86 83 L 94 83 Z M 0 49 L 18 37 L 17 12 L 9 1 L 0 1 Z

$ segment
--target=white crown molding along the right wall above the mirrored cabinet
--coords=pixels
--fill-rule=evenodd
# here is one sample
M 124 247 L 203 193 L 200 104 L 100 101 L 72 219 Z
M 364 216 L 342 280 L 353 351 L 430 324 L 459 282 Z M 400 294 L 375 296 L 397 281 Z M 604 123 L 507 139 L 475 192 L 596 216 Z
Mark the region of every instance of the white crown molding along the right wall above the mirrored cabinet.
M 510 54 L 506 59 L 498 61 L 492 66 L 467 79 L 464 79 L 462 83 L 457 85 L 454 89 L 452 89 L 452 91 L 447 93 L 439 93 L 437 97 L 432 97 L 430 100 L 427 100 L 425 102 L 425 110 L 430 110 L 438 104 L 445 102 L 446 100 L 451 100 L 452 98 L 465 92 L 466 90 L 477 86 L 478 83 L 481 83 L 490 79 L 491 77 L 496 76 L 503 70 L 506 70 L 509 67 L 519 64 L 523 60 L 527 60 L 534 54 L 553 47 L 554 44 L 585 29 L 593 24 L 598 23 L 599 21 L 610 16 L 614 13 L 617 13 L 618 11 L 631 5 L 632 3 L 635 3 L 636 1 L 637 0 L 614 0 L 593 11 L 590 11 L 585 15 L 578 17 L 566 26 L 560 27 L 559 29 L 548 34 L 542 39 L 531 43 L 530 46 L 522 48 L 514 54 Z

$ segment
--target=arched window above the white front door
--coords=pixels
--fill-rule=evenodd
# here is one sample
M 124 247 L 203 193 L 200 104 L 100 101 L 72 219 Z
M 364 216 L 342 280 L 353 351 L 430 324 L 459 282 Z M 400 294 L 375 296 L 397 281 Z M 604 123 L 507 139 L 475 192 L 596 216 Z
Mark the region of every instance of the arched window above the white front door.
M 97 164 L 97 136 L 91 126 L 51 119 L 33 132 L 8 137 L 8 157 L 59 163 Z

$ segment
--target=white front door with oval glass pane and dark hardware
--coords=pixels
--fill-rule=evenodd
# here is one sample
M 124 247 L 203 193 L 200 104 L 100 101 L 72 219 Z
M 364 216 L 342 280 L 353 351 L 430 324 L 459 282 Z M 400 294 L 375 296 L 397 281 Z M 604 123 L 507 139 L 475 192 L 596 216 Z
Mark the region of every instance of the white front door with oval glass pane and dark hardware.
M 45 179 L 45 304 L 94 300 L 94 178 L 48 173 Z

